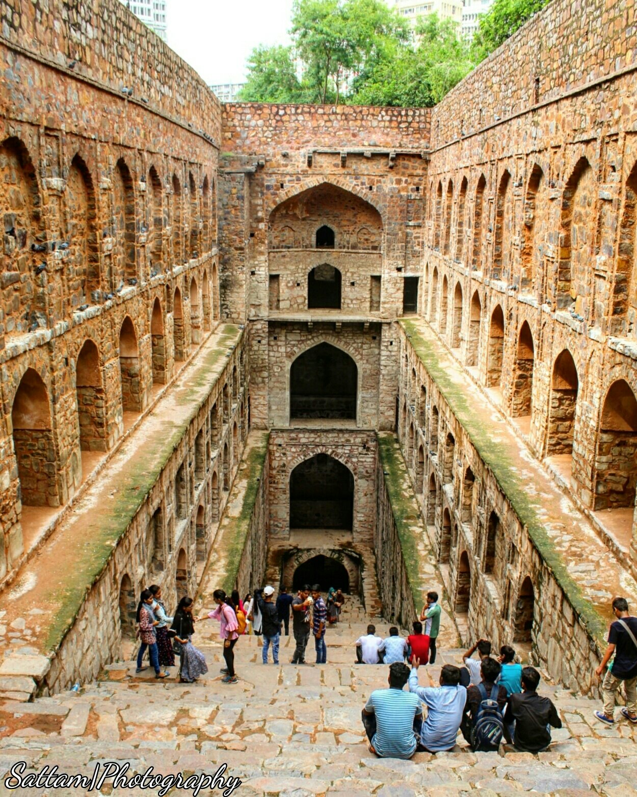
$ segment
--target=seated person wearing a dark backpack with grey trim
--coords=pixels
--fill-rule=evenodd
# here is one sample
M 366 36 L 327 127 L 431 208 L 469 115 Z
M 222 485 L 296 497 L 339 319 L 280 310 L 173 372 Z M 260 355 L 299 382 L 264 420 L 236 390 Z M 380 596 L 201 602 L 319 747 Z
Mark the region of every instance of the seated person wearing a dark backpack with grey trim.
M 500 662 L 485 656 L 480 664 L 480 681 L 467 689 L 460 729 L 475 751 L 497 750 L 502 741 L 506 688 L 496 684 Z

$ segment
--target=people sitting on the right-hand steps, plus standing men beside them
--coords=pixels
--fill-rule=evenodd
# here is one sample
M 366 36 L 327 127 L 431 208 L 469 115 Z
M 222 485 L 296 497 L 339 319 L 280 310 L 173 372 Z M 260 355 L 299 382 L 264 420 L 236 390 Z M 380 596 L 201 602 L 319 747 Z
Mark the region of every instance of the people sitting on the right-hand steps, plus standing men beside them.
M 429 600 L 434 596 L 437 599 L 434 593 L 428 595 L 428 606 L 437 603 Z M 620 713 L 637 724 L 637 618 L 628 613 L 624 598 L 613 600 L 612 611 L 616 619 L 596 669 L 598 677 L 604 675 L 604 711 L 596 711 L 595 716 L 605 724 L 615 723 L 616 694 L 623 684 L 626 706 Z M 374 626 L 369 626 L 367 636 L 356 642 L 363 663 L 389 664 L 389 689 L 373 692 L 362 710 L 371 752 L 411 758 L 416 750 L 448 751 L 455 746 L 459 731 L 475 752 L 497 750 L 503 740 L 525 752 L 541 752 L 549 746 L 550 729 L 561 728 L 561 719 L 553 701 L 537 693 L 540 673 L 517 663 L 511 646 L 501 646 L 494 657 L 491 643 L 479 639 L 463 654 L 462 667 L 445 664 L 440 685 L 423 687 L 418 682 L 418 668 L 428 657 L 432 661 L 431 641 L 423 634 L 421 622 L 414 622 L 413 630 L 404 639 L 393 627 L 389 637 L 382 639 L 376 636 Z

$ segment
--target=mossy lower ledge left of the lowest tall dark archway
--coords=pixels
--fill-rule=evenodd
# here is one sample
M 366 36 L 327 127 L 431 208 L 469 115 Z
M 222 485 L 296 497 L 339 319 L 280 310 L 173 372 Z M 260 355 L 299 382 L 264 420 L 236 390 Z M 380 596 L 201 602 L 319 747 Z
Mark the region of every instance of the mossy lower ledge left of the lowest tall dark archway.
M 224 529 L 224 544 L 228 552 L 228 558 L 226 559 L 227 572 L 222 588 L 228 593 L 234 589 L 236 577 L 239 573 L 241 556 L 243 556 L 246 540 L 248 540 L 252 515 L 256 505 L 256 496 L 259 493 L 265 457 L 268 453 L 269 439 L 270 433 L 264 432 L 261 442 L 254 446 L 244 459 L 241 472 L 237 475 L 241 481 L 247 480 L 241 511 L 238 516 L 228 516 L 225 520 L 225 525 L 232 527 L 229 532 Z

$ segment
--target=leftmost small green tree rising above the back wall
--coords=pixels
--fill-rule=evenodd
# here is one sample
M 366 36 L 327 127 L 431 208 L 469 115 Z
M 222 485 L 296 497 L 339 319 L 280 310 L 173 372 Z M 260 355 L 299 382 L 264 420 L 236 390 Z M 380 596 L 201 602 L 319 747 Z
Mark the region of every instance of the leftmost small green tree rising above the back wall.
M 303 86 L 296 77 L 291 47 L 255 47 L 248 58 L 248 81 L 237 99 L 276 103 L 305 101 Z

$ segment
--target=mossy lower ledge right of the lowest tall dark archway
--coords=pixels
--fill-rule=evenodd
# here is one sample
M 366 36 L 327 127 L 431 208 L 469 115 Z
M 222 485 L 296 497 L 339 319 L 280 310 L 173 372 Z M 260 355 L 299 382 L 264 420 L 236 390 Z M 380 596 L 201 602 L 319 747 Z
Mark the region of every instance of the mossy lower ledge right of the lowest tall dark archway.
M 412 482 L 404 464 L 401 446 L 395 434 L 389 432 L 377 434 L 378 454 L 385 476 L 385 486 L 389 495 L 389 504 L 392 508 L 393 519 L 396 523 L 398 539 L 401 542 L 404 569 L 407 574 L 409 587 L 412 591 L 414 611 L 422 602 L 424 590 L 423 579 L 420 577 L 420 556 L 418 544 L 422 540 L 416 534 L 415 528 L 422 525 L 420 507 L 413 492 Z

